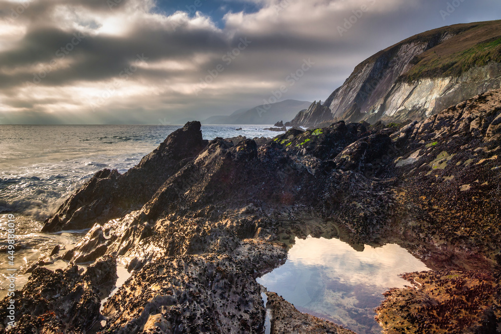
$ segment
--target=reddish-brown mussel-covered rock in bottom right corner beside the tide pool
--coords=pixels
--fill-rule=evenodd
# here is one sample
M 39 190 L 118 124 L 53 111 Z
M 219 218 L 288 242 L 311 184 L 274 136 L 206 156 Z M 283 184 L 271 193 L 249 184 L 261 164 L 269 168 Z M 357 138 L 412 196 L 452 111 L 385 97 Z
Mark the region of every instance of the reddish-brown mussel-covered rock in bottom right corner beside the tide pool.
M 376 310 L 385 333 L 499 332 L 499 277 L 485 271 L 425 271 L 403 278 L 412 287 L 386 292 Z

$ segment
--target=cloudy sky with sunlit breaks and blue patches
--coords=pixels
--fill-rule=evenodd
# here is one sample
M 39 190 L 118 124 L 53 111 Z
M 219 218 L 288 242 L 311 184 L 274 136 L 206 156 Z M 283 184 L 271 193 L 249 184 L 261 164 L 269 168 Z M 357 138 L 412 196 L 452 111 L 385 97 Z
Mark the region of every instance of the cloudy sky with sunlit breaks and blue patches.
M 0 0 L 0 123 L 168 124 L 324 101 L 378 51 L 499 13 L 498 0 Z

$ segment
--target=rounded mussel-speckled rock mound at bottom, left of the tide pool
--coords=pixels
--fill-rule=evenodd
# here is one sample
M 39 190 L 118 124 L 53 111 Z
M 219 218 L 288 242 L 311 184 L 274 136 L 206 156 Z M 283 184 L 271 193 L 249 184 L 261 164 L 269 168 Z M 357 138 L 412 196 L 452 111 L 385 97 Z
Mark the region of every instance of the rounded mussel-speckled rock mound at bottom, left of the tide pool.
M 105 303 L 105 331 L 137 332 L 158 323 L 161 333 L 260 333 L 260 291 L 252 272 L 227 255 L 161 259 L 133 274 Z

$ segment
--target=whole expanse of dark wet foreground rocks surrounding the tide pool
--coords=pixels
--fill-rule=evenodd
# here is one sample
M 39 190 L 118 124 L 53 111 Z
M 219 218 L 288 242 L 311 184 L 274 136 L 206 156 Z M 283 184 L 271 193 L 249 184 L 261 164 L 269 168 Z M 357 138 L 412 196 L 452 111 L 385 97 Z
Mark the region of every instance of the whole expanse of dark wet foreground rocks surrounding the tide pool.
M 101 332 L 260 333 L 265 306 L 255 279 L 284 262 L 293 235 L 309 234 L 335 235 L 355 249 L 398 243 L 440 277 L 459 272 L 462 278 L 451 276 L 446 284 L 460 280 L 462 290 L 436 290 L 437 300 L 450 296 L 454 305 L 465 305 L 465 295 L 488 290 L 495 296 L 499 101 L 501 91 L 490 91 L 420 123 L 337 122 L 291 129 L 260 144 L 247 138 L 204 142 L 199 123 L 188 123 L 127 173 L 97 173 L 49 218 L 50 230 L 92 228 L 74 248 L 53 254 L 70 261 L 68 269 L 33 270 L 18 314 L 42 331 L 47 322 L 66 332 L 94 323 L 92 330 Z M 104 203 L 102 210 L 97 203 Z M 108 261 L 116 258 L 132 275 L 100 313 L 104 295 L 97 286 L 114 284 L 116 264 Z M 95 264 L 76 271 L 73 264 L 86 261 Z M 423 288 L 444 282 L 432 272 L 423 275 Z M 431 298 L 419 288 L 388 294 L 378 310 L 385 330 L 404 330 L 401 319 L 417 325 L 420 318 L 406 300 L 421 298 L 418 292 Z M 68 299 L 70 293 L 76 297 Z M 465 301 L 492 312 L 465 313 L 473 327 L 464 328 L 480 323 L 481 332 L 500 322 L 495 298 Z M 277 332 L 288 326 L 342 332 L 276 299 L 284 314 Z M 65 303 L 72 316 L 62 310 Z M 443 316 L 426 305 L 423 317 L 438 323 L 434 316 Z M 100 316 L 106 317 L 103 327 Z

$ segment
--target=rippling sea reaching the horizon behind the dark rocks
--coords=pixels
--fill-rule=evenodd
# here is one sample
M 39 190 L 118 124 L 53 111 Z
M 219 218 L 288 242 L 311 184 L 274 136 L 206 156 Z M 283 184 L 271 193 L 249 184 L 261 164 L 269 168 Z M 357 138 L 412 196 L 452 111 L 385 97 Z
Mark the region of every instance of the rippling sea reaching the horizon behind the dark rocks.
M 0 125 L 0 213 L 43 220 L 97 171 L 136 165 L 182 125 Z M 274 137 L 270 125 L 206 125 L 204 139 Z M 237 128 L 242 130 L 237 131 Z

